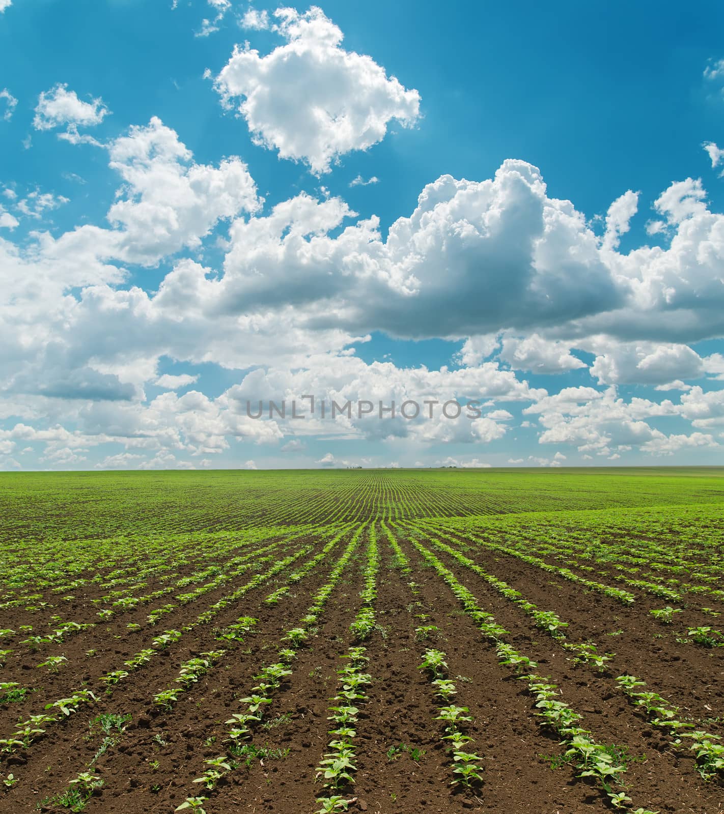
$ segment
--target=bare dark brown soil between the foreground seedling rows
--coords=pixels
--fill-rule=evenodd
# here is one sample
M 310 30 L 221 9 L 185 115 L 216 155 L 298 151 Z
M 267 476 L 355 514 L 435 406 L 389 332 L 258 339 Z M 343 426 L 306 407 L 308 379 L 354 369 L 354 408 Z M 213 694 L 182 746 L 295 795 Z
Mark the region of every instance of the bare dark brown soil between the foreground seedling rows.
M 379 627 L 366 642 L 370 657 L 366 671 L 371 674 L 372 684 L 367 690 L 368 700 L 360 705 L 356 725 L 355 783 L 340 792 L 353 801 L 349 811 L 611 811 L 605 795 L 585 779 L 577 778 L 568 764 L 551 768 L 551 759 L 547 758 L 562 752 L 557 738 L 539 726 L 533 698 L 526 693 L 524 682 L 516 681 L 511 671 L 498 663 L 493 646 L 483 640 L 441 578 L 406 540 L 401 543 L 412 571 L 402 574 L 394 567 L 391 551 L 381 535 L 378 542 L 382 553 L 375 602 Z M 296 548 L 295 544 L 288 550 Z M 336 549 L 337 555 L 339 551 Z M 265 711 L 264 720 L 269 725 L 255 732 L 253 743 L 257 747 L 280 752 L 261 761 L 251 759 L 248 766 L 242 760 L 216 790 L 207 793 L 207 814 L 312 814 L 318 808 L 315 799 L 325 792 L 321 782 L 315 780 L 316 768 L 330 738 L 327 707 L 336 693 L 336 670 L 344 663 L 341 656 L 352 643 L 349 624 L 360 603 L 361 568 L 365 562 L 362 551 L 361 545 L 332 593 L 314 638 L 293 663 L 292 676 L 274 693 L 273 703 Z M 475 546 L 464 553 L 540 609 L 558 613 L 569 624 L 568 641 L 595 641 L 602 652 L 615 652 L 610 672 L 599 675 L 574 665 L 570 654 L 535 628 L 520 607 L 454 562 L 449 554 L 435 550 L 475 594 L 478 604 L 510 632 L 508 641 L 538 661 L 538 672 L 550 675 L 559 685 L 562 699 L 584 716 L 582 723 L 595 739 L 625 750 L 629 759 L 625 782 L 634 807 L 677 814 L 724 811 L 722 786 L 716 781 L 702 781 L 686 744 L 672 746 L 660 737 L 634 711 L 614 681 L 622 672 L 633 673 L 647 681 L 647 689 L 678 705 L 683 718 L 716 719 L 724 707 L 722 649 L 704 650 L 678 643 L 676 626 L 662 626 L 648 614 L 651 607 L 661 606 L 660 602 L 652 602 L 655 597 L 637 594 L 635 605 L 625 607 L 599 593 L 583 592 L 516 558 Z M 297 561 L 294 567 L 307 558 Z M 45 702 L 63 697 L 84 682 L 99 695 L 99 701 L 48 727 L 46 736 L 27 750 L 13 755 L 0 753 L 2 776 L 13 772 L 18 778 L 14 786 L 0 793 L 0 810 L 18 814 L 38 809 L 53 814 L 67 812 L 67 808 L 48 799 L 67 788 L 68 781 L 90 764 L 103 743 L 103 735 L 97 729 L 91 733 L 89 720 L 111 712 L 129 714 L 132 720 L 94 764 L 94 771 L 103 777 L 103 788 L 88 799 L 86 812 L 171 814 L 186 797 L 203 794 L 202 787 L 193 781 L 203 772 L 204 759 L 226 751 L 224 721 L 239 709 L 238 699 L 249 693 L 261 667 L 277 660 L 283 632 L 305 614 L 310 597 L 326 580 L 331 562 L 328 558 L 321 563 L 278 605 L 266 606 L 263 598 L 285 584 L 292 569 L 279 574 L 235 606 L 225 608 L 213 624 L 186 632 L 178 644 L 151 659 L 112 694 L 105 694 L 98 686 L 103 672 L 121 667 L 129 654 L 148 646 L 148 641 L 164 628 L 181 629 L 189 624 L 232 588 L 226 585 L 210 592 L 198 602 L 174 611 L 168 624 L 163 621 L 142 632 L 126 632 L 125 625 L 145 617 L 150 606 L 69 638 L 59 651 L 71 663 L 56 676 L 40 676 L 40 671 L 26 666 L 42 660 L 39 654 L 8 664 L 7 672 L 2 673 L 3 681 L 21 681 L 37 692 L 22 704 L 0 707 L 2 737 L 7 737 L 19 716 L 41 711 Z M 242 575 L 239 584 L 251 575 L 252 571 Z M 419 586 L 418 593 L 410 588 L 413 581 Z M 157 587 L 150 584 L 145 590 Z M 87 620 L 89 607 L 96 606 L 84 603 L 64 619 Z M 230 624 L 239 615 L 257 616 L 256 632 L 244 643 L 227 646 L 223 658 L 181 694 L 172 711 L 154 707 L 153 695 L 173 685 L 183 661 L 225 646 L 215 639 L 214 629 Z M 419 641 L 415 628 L 420 624 L 436 625 L 437 634 L 428 641 Z M 447 654 L 448 673 L 458 689 L 455 701 L 468 707 L 474 719 L 467 731 L 474 738 L 471 751 L 482 758 L 484 781 L 472 790 L 451 786 L 450 757 L 441 741 L 441 721 L 435 720 L 437 700 L 428 678 L 418 669 L 424 650 L 430 646 Z M 86 650 L 91 648 L 98 655 L 87 659 Z M 722 724 L 716 720 L 709 720 L 702 728 L 724 734 Z M 390 759 L 390 747 L 401 744 L 419 749 L 419 759 L 413 760 L 410 751 L 400 751 Z

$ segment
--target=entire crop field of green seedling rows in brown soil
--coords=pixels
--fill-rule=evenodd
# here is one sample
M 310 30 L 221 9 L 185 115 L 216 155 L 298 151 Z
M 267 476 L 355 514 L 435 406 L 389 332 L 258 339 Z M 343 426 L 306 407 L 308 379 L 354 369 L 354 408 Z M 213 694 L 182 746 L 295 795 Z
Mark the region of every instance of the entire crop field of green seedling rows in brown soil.
M 2 812 L 724 812 L 724 469 L 0 496 Z

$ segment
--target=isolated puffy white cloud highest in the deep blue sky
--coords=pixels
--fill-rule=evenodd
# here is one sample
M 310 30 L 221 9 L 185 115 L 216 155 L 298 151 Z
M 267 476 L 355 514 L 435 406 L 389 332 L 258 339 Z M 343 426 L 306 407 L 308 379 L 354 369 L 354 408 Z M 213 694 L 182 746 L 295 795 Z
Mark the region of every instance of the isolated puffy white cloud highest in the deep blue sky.
M 263 57 L 237 46 L 215 82 L 227 106 L 243 97 L 239 113 L 255 142 L 321 174 L 340 155 L 380 142 L 390 120 L 415 123 L 419 93 L 341 48 L 342 32 L 321 9 L 279 8 L 274 17 L 286 44 Z

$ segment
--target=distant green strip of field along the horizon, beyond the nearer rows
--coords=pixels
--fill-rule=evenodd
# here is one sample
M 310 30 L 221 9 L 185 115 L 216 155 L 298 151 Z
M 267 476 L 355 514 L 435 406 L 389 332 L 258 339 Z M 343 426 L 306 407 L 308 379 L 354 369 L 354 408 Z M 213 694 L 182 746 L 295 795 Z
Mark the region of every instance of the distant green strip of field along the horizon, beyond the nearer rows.
M 3 540 L 717 504 L 724 467 L 0 473 Z M 333 506 L 332 506 L 333 504 Z

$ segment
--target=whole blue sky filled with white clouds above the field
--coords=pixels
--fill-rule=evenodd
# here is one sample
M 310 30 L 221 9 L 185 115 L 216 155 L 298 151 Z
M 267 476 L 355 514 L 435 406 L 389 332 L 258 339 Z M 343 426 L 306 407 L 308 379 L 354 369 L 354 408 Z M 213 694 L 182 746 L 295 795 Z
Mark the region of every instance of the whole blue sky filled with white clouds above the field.
M 0 467 L 721 461 L 720 4 L 0 9 Z

